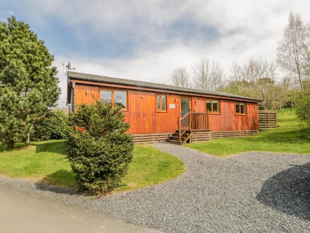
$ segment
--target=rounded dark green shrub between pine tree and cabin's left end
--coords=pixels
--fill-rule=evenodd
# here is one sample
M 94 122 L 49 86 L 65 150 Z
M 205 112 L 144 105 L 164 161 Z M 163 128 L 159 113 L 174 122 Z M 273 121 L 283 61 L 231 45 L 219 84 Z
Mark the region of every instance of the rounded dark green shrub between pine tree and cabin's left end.
M 35 126 L 33 133 L 30 135 L 30 141 L 64 139 L 67 124 L 67 114 L 59 110 L 51 111 L 46 118 Z

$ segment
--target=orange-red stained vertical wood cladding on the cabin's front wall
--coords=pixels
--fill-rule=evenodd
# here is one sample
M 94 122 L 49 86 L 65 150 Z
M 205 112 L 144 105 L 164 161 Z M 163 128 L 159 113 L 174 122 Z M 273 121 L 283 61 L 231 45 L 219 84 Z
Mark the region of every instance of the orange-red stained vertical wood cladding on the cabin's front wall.
M 100 88 L 104 87 L 100 84 Z M 108 86 L 107 86 L 108 87 Z M 166 112 L 156 112 L 157 91 L 121 88 L 128 91 L 128 111 L 126 122 L 131 124 L 129 132 L 132 134 L 154 134 L 173 133 L 178 129 L 178 117 L 180 116 L 180 95 L 176 93 L 166 93 Z M 88 91 L 88 94 L 86 94 Z M 94 98 L 99 99 L 99 86 L 85 83 L 75 84 L 75 105 L 92 103 Z M 143 96 L 143 97 L 142 97 Z M 206 112 L 205 97 L 186 95 L 192 97 L 191 111 Z M 176 99 L 176 100 L 175 100 Z M 210 97 L 208 97 L 210 99 Z M 212 98 L 211 98 L 212 99 Z M 219 99 L 218 96 L 214 99 Z M 239 101 L 240 102 L 240 101 Z M 220 114 L 209 114 L 209 129 L 212 131 L 244 131 L 259 130 L 258 106 L 256 102 L 246 102 L 246 115 L 235 114 L 235 101 L 231 99 L 220 99 Z M 169 104 L 174 104 L 175 108 L 169 108 Z M 177 106 L 178 105 L 178 106 Z

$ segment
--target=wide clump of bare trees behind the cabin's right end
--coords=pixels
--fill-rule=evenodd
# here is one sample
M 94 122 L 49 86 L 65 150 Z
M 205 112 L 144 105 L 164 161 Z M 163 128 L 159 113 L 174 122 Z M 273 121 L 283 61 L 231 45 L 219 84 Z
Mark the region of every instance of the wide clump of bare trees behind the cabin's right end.
M 264 110 L 276 110 L 287 101 L 288 80 L 277 74 L 277 64 L 262 59 L 249 59 L 243 64 L 232 62 L 229 80 L 222 91 L 260 99 Z

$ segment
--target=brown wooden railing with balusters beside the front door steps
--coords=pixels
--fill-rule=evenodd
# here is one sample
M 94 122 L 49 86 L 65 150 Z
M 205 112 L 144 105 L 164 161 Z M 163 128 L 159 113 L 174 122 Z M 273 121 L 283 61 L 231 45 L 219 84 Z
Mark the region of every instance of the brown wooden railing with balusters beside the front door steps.
M 179 119 L 179 140 L 187 130 L 209 129 L 209 112 L 188 112 Z

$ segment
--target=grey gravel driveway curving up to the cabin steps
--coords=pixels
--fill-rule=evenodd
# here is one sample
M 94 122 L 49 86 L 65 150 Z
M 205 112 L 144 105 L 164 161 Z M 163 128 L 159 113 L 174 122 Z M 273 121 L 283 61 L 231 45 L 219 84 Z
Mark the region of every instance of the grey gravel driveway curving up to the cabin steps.
M 310 232 L 309 155 L 247 152 L 219 158 L 184 146 L 152 145 L 182 159 L 186 172 L 97 200 L 41 183 L 0 181 L 165 232 Z

